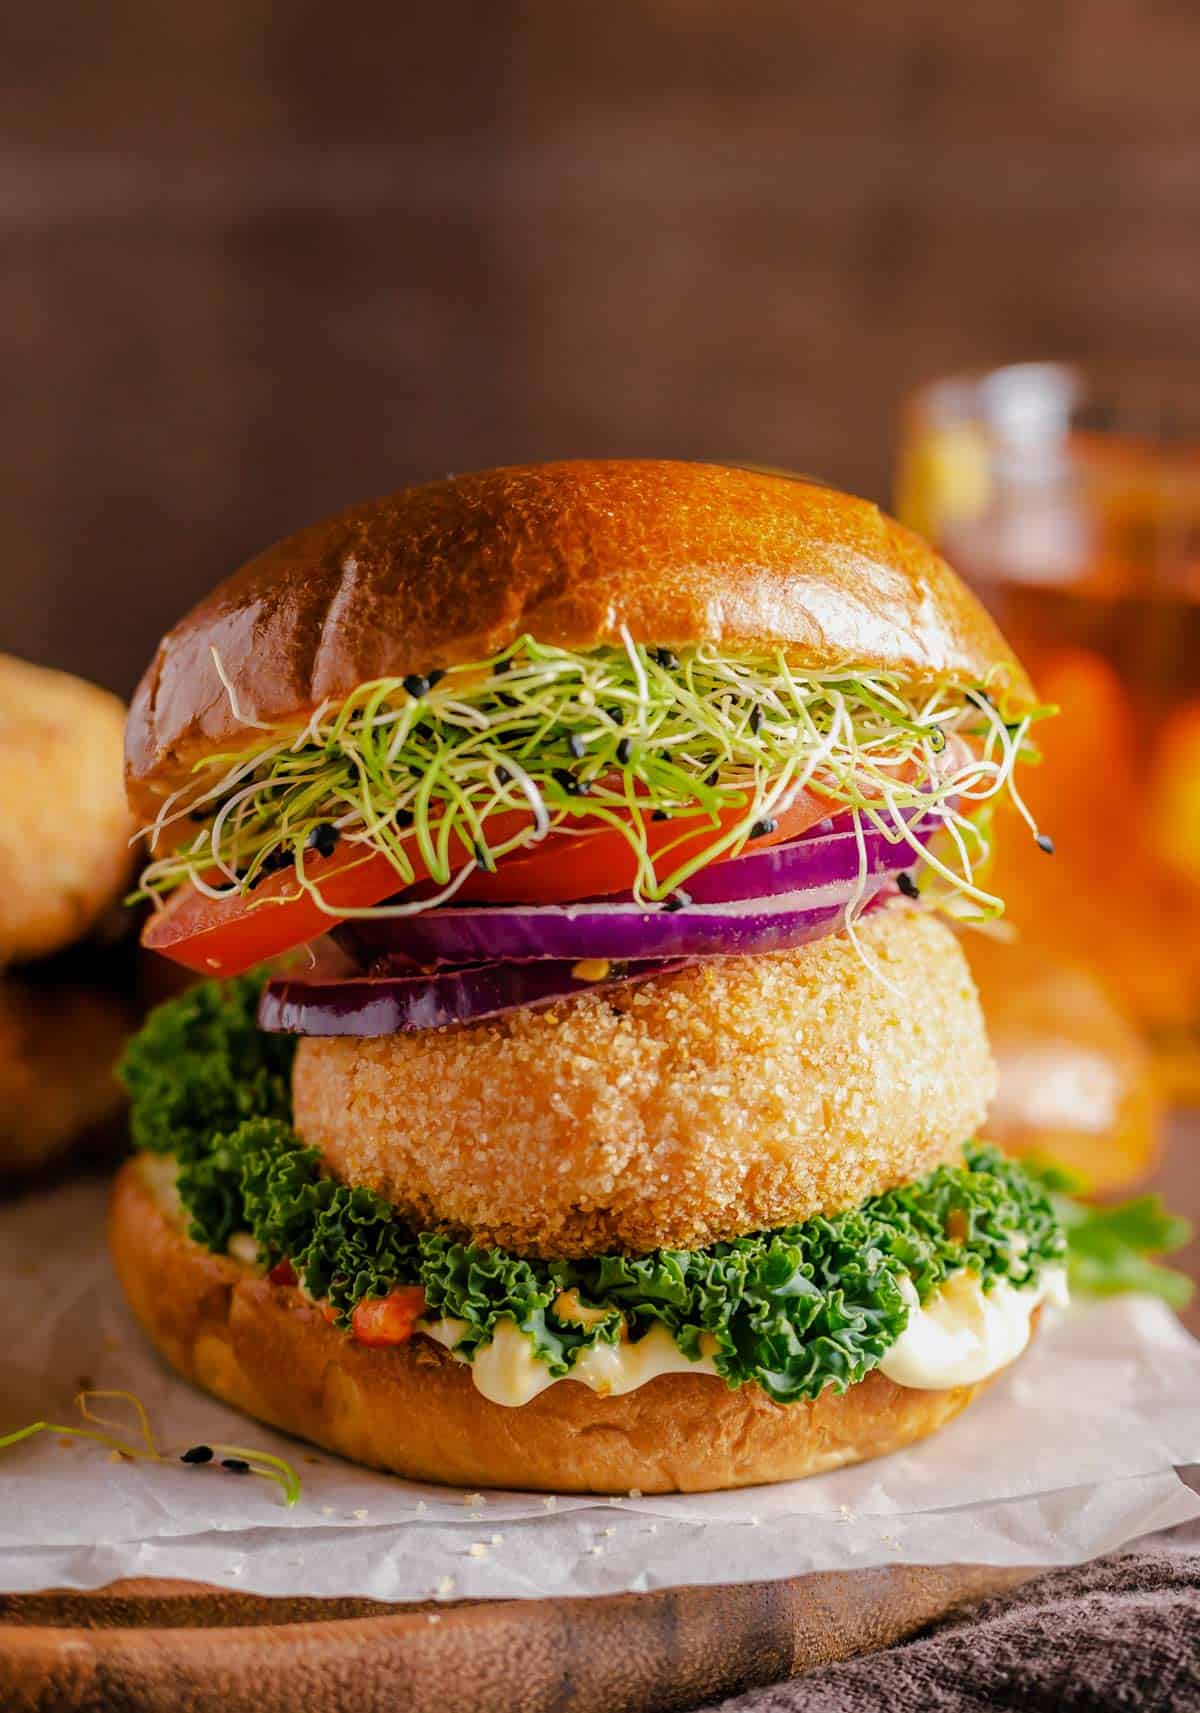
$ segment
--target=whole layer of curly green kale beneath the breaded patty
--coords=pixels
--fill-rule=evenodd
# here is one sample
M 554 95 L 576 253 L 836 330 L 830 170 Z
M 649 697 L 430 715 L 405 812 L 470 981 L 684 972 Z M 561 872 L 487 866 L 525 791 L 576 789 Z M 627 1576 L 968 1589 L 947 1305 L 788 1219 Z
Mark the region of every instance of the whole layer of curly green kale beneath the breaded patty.
M 291 1048 L 255 1030 L 257 992 L 252 980 L 193 988 L 149 1019 L 123 1064 L 134 1132 L 178 1160 L 195 1242 L 224 1250 L 250 1232 L 262 1259 L 288 1257 L 342 1324 L 363 1298 L 421 1285 L 433 1316 L 464 1322 L 460 1355 L 510 1317 L 555 1377 L 582 1350 L 661 1324 L 731 1388 L 753 1381 L 791 1403 L 878 1365 L 907 1322 L 904 1278 L 923 1302 L 964 1266 L 984 1288 L 1032 1286 L 1065 1254 L 1046 1189 L 979 1146 L 846 1213 L 695 1250 L 541 1261 L 414 1232 L 373 1191 L 324 1175 L 291 1129 Z M 171 1088 L 164 1112 L 147 1110 Z M 601 1319 L 561 1317 L 563 1290 Z

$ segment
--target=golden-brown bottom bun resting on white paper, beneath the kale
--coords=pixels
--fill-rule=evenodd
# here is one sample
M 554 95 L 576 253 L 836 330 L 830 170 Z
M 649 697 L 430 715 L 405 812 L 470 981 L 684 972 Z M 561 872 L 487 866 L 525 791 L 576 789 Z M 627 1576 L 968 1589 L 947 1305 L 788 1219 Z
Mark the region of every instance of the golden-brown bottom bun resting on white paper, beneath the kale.
M 620 1398 L 563 1381 L 507 1408 L 431 1340 L 358 1345 L 300 1290 L 193 1244 L 135 1160 L 116 1179 L 110 1242 L 134 1314 L 187 1379 L 354 1463 L 454 1487 L 661 1494 L 794 1480 L 911 1446 L 988 1384 L 914 1391 L 875 1370 L 842 1394 L 777 1405 L 758 1386 L 664 1374 Z

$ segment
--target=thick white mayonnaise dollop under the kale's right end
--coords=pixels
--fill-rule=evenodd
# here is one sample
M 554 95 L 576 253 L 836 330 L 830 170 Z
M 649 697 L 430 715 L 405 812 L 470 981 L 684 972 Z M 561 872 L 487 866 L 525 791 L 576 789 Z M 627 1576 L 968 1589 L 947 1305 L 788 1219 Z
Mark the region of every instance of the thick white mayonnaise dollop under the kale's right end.
M 1029 1343 L 1029 1326 L 1041 1302 L 1066 1302 L 1066 1273 L 1046 1268 L 1041 1281 L 1015 1290 L 996 1280 L 984 1290 L 977 1273 L 964 1268 L 921 1305 L 911 1280 L 900 1281 L 909 1304 L 909 1324 L 880 1362 L 897 1386 L 940 1391 L 974 1386 L 1013 1362 Z

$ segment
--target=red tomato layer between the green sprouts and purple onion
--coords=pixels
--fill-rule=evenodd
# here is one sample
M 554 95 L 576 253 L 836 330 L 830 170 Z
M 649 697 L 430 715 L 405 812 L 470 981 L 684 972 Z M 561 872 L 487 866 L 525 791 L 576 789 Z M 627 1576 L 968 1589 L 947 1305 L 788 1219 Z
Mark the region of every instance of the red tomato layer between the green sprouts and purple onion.
M 823 821 L 835 805 L 815 791 L 796 791 L 786 809 L 774 814 L 769 833 L 758 834 L 755 848 L 794 839 L 808 827 Z M 647 846 L 652 855 L 671 846 L 666 858 L 671 868 L 697 856 L 705 846 L 736 826 L 745 810 L 728 809 L 714 829 L 709 815 L 674 815 L 668 821 L 647 821 Z M 695 831 L 686 826 L 693 822 Z M 490 836 L 500 843 L 529 826 L 524 812 L 514 810 L 488 821 Z M 587 821 L 580 817 L 580 827 Z M 409 841 L 409 860 L 416 880 L 428 882 L 428 870 Z M 728 855 L 728 853 L 726 853 Z M 469 853 L 459 841 L 455 862 L 466 862 Z M 716 858 L 719 862 L 724 856 Z M 296 877 L 282 872 L 270 875 L 250 894 L 233 898 L 205 898 L 193 886 L 183 886 L 156 911 L 142 930 L 142 946 L 163 952 L 175 963 L 209 976 L 240 975 L 270 958 L 329 934 L 339 920 L 339 906 L 356 910 L 378 904 L 395 892 L 395 868 L 382 855 L 363 858 L 361 846 L 346 846 L 332 856 L 306 856 L 305 870 L 320 884 L 322 896 L 334 913 L 300 891 Z M 637 880 L 637 860 L 625 836 L 616 827 L 601 826 L 580 834 L 551 833 L 541 845 L 502 856 L 495 874 L 478 870 L 455 892 L 464 903 L 490 904 L 558 904 L 575 898 L 599 898 L 604 892 L 625 892 Z

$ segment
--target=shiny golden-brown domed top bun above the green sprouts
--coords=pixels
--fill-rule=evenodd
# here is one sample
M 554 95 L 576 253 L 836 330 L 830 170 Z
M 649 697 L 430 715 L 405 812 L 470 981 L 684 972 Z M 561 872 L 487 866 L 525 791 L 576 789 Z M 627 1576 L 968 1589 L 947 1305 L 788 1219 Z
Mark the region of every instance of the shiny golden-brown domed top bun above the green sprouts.
M 1029 682 L 991 618 L 878 507 L 789 476 L 652 459 L 488 469 L 356 505 L 267 548 L 159 644 L 128 719 L 149 819 L 197 757 L 380 677 L 561 648 L 784 648 L 803 668 Z M 216 656 L 221 661 L 221 680 Z

